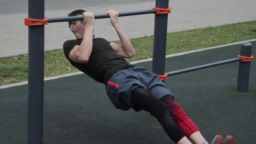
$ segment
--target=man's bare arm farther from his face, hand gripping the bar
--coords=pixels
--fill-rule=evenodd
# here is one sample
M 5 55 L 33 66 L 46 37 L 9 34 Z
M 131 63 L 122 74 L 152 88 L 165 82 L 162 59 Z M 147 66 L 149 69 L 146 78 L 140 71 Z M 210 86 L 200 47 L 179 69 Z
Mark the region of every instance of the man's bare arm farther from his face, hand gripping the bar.
M 111 42 L 110 45 L 112 46 L 112 49 L 114 49 L 118 55 L 124 58 L 130 58 L 134 56 L 135 49 L 133 48 L 130 39 L 118 25 L 118 12 L 115 10 L 109 10 L 107 13 L 110 16 L 111 24 L 114 26 L 121 41 L 121 45 Z

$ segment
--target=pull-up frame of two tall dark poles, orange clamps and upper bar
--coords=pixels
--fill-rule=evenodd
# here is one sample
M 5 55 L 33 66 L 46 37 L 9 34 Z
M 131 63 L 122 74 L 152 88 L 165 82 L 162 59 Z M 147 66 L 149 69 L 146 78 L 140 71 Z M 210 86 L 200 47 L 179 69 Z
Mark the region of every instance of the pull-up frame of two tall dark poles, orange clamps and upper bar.
M 156 8 L 121 12 L 118 16 L 155 13 L 153 72 L 164 73 L 169 0 L 156 0 Z M 43 144 L 43 78 L 44 78 L 44 25 L 48 23 L 83 20 L 83 16 L 46 18 L 44 0 L 29 0 L 29 70 L 28 70 L 28 144 Z M 108 18 L 108 14 L 95 14 L 95 19 Z M 33 22 L 35 21 L 35 23 Z M 157 64 L 158 63 L 158 64 Z M 159 64 L 161 63 L 161 65 Z

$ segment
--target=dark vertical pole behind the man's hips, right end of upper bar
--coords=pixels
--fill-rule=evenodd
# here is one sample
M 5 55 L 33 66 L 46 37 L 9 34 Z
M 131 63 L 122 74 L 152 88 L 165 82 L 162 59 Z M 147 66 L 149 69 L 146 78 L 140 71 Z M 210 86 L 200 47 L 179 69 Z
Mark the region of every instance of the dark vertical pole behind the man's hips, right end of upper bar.
M 168 8 L 169 0 L 156 0 L 155 7 Z M 152 72 L 164 75 L 168 14 L 155 14 Z

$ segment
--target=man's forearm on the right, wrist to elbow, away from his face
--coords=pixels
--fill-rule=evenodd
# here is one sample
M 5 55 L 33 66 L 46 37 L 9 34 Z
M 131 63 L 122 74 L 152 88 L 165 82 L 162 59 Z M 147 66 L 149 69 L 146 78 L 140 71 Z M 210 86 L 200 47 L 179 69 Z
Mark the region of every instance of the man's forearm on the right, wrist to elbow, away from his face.
M 133 56 L 135 54 L 135 49 L 133 48 L 128 36 L 123 32 L 123 30 L 119 27 L 118 24 L 115 24 L 114 28 L 115 28 L 115 30 L 119 36 L 119 39 L 121 41 L 122 49 L 125 51 L 127 56 Z

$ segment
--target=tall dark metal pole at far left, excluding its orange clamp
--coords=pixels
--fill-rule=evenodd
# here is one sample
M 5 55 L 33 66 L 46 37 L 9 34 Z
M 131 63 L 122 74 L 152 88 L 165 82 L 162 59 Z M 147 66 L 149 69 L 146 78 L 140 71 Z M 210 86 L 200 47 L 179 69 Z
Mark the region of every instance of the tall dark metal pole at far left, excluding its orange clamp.
M 44 0 L 29 0 L 29 17 L 44 19 Z M 43 144 L 44 26 L 29 26 L 28 144 Z

